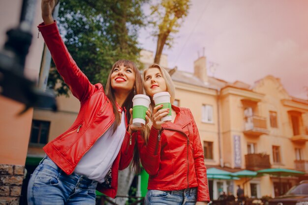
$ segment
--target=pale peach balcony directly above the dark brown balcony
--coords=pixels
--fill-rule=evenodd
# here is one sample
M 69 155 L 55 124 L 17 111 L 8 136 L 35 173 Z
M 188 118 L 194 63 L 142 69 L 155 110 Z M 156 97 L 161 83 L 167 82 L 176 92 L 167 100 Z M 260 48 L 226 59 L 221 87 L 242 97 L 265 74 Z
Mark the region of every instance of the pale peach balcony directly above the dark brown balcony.
M 266 118 L 260 116 L 245 117 L 244 134 L 253 136 L 269 134 L 269 130 L 266 125 Z

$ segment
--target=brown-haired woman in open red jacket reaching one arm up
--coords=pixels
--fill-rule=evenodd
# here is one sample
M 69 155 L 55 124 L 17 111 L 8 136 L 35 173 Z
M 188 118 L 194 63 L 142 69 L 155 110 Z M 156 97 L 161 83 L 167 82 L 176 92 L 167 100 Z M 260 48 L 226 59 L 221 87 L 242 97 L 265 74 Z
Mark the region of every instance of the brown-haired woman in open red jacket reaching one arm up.
M 118 60 L 105 91 L 92 85 L 62 41 L 52 18 L 54 5 L 55 0 L 42 0 L 44 23 L 38 28 L 80 111 L 67 131 L 43 147 L 46 156 L 29 181 L 28 205 L 95 205 L 95 189 L 116 196 L 118 170 L 132 159 L 134 131 L 143 128 L 128 125 L 126 109 L 134 93 L 143 93 L 142 79 L 133 62 Z

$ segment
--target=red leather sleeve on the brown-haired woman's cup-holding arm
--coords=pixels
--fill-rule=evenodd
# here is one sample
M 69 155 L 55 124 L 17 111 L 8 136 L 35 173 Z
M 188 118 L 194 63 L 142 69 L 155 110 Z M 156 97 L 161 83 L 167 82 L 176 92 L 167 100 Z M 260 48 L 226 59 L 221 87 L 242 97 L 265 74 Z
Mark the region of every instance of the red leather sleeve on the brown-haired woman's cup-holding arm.
M 128 167 L 130 161 L 132 160 L 136 138 L 139 132 L 140 131 L 137 131 L 137 132 L 132 133 L 132 135 L 130 135 L 126 131 L 126 134 L 125 134 L 122 146 L 121 146 L 121 158 L 120 158 L 119 170 L 123 170 L 126 167 Z

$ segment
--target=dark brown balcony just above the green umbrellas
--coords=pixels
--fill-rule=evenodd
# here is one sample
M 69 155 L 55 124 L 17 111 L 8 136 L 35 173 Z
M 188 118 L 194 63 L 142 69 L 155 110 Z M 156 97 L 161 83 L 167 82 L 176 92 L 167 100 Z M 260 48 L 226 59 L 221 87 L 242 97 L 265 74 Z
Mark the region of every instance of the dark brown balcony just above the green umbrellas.
M 246 154 L 246 169 L 257 171 L 271 168 L 270 155 L 262 153 Z

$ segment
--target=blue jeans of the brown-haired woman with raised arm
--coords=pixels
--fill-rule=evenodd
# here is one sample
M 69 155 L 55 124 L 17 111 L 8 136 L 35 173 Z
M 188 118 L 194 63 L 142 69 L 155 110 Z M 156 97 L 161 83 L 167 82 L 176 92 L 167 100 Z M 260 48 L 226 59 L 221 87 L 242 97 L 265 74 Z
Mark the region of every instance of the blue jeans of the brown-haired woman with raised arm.
M 28 205 L 95 205 L 97 181 L 66 175 L 48 156 L 39 163 L 28 185 Z

